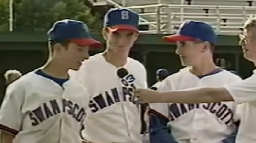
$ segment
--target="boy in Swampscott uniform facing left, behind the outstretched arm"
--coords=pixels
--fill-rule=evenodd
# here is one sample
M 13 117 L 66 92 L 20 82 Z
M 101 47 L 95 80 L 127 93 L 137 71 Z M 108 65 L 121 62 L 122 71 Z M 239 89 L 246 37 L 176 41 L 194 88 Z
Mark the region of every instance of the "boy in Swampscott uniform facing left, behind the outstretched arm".
M 187 67 L 168 76 L 161 82 L 158 91 L 220 87 L 241 80 L 237 75 L 214 64 L 213 50 L 217 35 L 209 24 L 185 21 L 181 24 L 178 34 L 166 36 L 164 40 L 177 42 L 176 54 L 180 57 L 182 66 Z M 174 143 L 174 141 L 234 143 L 235 141 L 239 116 L 238 106 L 234 102 L 153 103 L 150 106 L 152 143 Z

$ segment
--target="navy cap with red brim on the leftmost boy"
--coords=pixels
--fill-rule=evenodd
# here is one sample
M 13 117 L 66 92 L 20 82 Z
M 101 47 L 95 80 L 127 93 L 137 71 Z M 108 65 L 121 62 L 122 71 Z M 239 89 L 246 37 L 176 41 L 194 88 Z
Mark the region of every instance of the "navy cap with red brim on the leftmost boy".
M 49 41 L 68 40 L 82 47 L 98 48 L 101 46 L 99 41 L 91 38 L 88 26 L 82 21 L 73 19 L 56 21 L 47 34 Z

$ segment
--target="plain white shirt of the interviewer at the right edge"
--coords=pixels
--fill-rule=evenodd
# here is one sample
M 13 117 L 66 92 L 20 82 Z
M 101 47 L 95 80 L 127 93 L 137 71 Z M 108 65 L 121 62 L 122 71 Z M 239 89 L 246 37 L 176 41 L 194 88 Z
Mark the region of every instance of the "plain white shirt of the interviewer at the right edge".
M 243 103 L 236 143 L 256 142 L 256 70 L 249 78 L 224 87 L 237 104 Z

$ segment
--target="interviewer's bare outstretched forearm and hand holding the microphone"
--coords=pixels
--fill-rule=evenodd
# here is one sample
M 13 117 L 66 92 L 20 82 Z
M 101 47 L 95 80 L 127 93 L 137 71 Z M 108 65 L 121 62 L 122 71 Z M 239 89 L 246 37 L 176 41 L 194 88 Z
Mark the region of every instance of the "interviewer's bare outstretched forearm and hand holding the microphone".
M 135 95 L 145 103 L 214 103 L 234 101 L 225 88 L 199 88 L 186 91 L 159 92 L 138 89 Z

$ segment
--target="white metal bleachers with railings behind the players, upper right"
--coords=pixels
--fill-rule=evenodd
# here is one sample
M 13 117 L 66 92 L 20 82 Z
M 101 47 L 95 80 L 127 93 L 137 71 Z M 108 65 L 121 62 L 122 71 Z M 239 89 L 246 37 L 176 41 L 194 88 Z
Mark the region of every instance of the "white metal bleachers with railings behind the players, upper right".
M 237 35 L 250 15 L 256 14 L 256 0 L 100 0 L 139 13 L 141 33 L 174 33 L 187 19 L 204 21 L 221 35 Z M 250 5 L 250 6 L 249 6 Z

